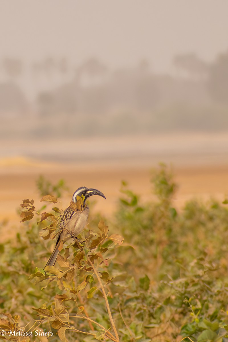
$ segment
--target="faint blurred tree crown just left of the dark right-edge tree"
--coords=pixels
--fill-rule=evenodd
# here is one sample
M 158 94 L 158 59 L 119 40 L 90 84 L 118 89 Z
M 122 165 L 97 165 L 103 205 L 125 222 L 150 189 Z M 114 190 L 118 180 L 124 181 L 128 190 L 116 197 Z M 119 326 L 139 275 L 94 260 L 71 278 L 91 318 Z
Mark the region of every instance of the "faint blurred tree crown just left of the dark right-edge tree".
M 173 64 L 178 73 L 183 74 L 184 72 L 184 76 L 187 77 L 205 79 L 208 75 L 209 66 L 194 53 L 176 55 Z

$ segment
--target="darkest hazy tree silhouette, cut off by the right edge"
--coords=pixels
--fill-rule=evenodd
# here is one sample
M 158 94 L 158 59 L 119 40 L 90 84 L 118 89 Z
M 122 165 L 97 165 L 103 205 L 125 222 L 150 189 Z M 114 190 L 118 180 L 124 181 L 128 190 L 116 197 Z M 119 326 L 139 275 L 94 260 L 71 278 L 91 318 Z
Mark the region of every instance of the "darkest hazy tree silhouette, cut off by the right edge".
M 208 89 L 216 101 L 228 103 L 228 51 L 219 55 L 211 65 Z

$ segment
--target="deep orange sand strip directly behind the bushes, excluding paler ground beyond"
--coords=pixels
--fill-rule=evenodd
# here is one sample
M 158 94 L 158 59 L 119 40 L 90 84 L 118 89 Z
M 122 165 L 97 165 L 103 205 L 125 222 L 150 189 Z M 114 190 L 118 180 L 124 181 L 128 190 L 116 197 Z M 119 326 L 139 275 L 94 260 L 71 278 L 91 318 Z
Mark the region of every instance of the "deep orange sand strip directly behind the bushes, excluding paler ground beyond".
M 157 165 L 157 164 L 156 164 Z M 40 206 L 40 195 L 36 188 L 39 175 L 56 183 L 64 179 L 69 187 L 62 199 L 63 208 L 67 207 L 72 193 L 79 186 L 93 187 L 101 190 L 107 200 L 96 197 L 93 210 L 109 218 L 117 208 L 121 181 L 128 182 L 129 187 L 141 196 L 142 201 L 151 199 L 151 169 L 156 165 L 132 161 L 80 162 L 65 164 L 31 161 L 26 158 L 2 159 L 0 161 L 0 220 L 9 220 L 2 228 L 1 237 L 9 237 L 10 227 L 13 231 L 20 229 L 17 208 L 23 199 L 34 199 Z M 223 201 L 228 194 L 228 163 L 218 165 L 177 165 L 172 167 L 178 190 L 174 205 L 181 210 L 184 202 L 192 197 L 209 199 L 215 197 Z M 95 198 L 94 198 L 95 199 Z M 14 234 L 13 234 L 14 235 Z

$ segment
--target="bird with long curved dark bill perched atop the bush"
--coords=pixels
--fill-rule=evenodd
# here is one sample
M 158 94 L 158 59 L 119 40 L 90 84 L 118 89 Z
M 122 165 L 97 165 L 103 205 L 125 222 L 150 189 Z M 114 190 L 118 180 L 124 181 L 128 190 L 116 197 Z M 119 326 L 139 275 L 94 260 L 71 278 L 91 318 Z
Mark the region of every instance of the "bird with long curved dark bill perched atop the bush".
M 72 209 L 72 205 L 67 207 L 61 215 L 59 215 L 58 224 L 59 228 L 57 230 L 57 238 L 55 248 L 44 266 L 54 266 L 57 256 L 60 253 L 62 244 L 70 238 L 77 238 L 86 226 L 86 221 L 89 215 L 89 207 L 86 205 L 85 201 L 88 197 L 98 195 L 106 199 L 105 195 L 97 189 L 86 188 L 85 186 L 79 187 L 72 197 L 72 202 L 76 203 L 79 197 L 83 199 L 82 210 L 77 209 L 76 206 Z M 79 196 L 79 197 L 78 197 Z

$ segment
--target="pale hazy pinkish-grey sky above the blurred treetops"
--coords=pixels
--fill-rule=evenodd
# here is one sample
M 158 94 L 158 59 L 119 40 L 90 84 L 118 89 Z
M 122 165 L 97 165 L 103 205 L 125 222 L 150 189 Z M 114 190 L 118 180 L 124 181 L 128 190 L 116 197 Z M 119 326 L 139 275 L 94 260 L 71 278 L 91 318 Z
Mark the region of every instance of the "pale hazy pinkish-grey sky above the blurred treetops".
M 227 0 L 0 0 L 0 58 L 95 56 L 111 68 L 147 58 L 166 71 L 177 53 L 211 61 L 227 49 Z

